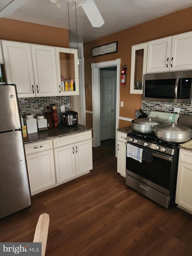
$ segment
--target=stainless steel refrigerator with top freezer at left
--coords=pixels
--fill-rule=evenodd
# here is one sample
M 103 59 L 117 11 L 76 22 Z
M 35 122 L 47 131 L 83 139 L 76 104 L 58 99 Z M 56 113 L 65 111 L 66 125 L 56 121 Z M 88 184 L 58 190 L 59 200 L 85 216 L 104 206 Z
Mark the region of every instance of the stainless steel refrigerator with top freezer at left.
M 0 218 L 31 205 L 16 85 L 0 84 Z

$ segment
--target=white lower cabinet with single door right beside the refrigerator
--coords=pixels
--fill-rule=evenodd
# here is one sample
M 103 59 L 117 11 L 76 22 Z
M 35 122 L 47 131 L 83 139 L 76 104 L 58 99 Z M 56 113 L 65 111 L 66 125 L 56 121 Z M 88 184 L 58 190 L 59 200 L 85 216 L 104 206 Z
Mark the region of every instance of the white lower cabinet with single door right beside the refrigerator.
M 39 147 L 36 143 L 32 143 L 33 147 Z M 29 146 L 31 144 L 27 144 Z M 29 184 L 31 194 L 37 194 L 38 192 L 46 190 L 55 184 L 55 165 L 53 149 L 40 151 L 33 154 L 26 152 L 27 169 L 29 174 Z

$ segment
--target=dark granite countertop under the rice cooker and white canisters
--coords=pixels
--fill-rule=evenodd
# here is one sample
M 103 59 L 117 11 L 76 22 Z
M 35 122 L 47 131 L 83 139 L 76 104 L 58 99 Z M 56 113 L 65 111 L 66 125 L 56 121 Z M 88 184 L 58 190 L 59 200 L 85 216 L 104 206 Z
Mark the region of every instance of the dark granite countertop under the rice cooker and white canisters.
M 27 134 L 27 137 L 23 138 L 24 144 L 38 142 L 42 140 L 55 139 L 58 137 L 63 137 L 63 136 L 72 135 L 72 134 L 76 134 L 83 131 L 92 130 L 91 127 L 80 125 L 80 124 L 74 125 L 71 127 L 68 127 L 68 126 L 61 126 L 61 127 L 62 128 L 52 128 L 46 131 L 39 131 L 39 132 Z

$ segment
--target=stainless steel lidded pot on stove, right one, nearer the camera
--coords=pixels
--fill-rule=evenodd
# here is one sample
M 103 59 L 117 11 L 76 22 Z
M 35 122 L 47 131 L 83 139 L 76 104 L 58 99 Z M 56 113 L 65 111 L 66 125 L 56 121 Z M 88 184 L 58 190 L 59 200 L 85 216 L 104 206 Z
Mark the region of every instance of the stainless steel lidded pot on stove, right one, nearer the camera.
M 159 125 L 155 127 L 155 136 L 167 142 L 185 142 L 191 139 L 192 129 L 176 123 Z

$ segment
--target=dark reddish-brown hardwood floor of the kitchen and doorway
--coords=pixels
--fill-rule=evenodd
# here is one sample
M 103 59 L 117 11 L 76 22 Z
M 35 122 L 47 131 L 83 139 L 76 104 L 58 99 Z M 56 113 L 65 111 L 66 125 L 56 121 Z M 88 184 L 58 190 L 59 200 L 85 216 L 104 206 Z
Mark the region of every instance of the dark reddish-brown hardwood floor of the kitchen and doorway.
M 125 185 L 115 140 L 93 148 L 90 173 L 32 197 L 0 220 L 0 242 L 32 242 L 39 215 L 50 216 L 46 255 L 192 255 L 192 215 L 165 209 Z

